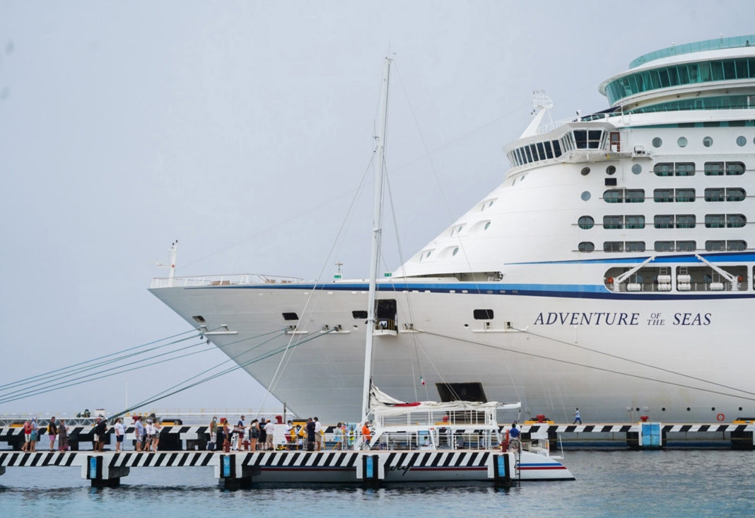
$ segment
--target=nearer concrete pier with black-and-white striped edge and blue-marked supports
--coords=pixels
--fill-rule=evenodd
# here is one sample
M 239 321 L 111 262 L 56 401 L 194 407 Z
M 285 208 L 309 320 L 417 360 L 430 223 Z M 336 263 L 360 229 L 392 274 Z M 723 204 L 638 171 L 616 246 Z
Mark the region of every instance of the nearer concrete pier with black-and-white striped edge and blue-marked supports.
M 132 467 L 214 467 L 229 489 L 251 482 L 485 481 L 506 485 L 516 473 L 511 453 L 500 451 L 212 451 L 0 453 L 6 467 L 81 467 L 93 486 L 116 486 Z

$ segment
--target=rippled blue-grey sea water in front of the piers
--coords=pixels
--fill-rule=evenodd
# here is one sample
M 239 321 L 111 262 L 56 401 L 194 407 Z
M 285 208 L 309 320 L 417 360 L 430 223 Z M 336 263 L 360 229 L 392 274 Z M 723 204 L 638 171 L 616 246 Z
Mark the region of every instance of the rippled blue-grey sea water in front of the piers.
M 570 482 L 260 485 L 227 491 L 212 468 L 132 468 L 94 489 L 81 468 L 9 467 L 0 516 L 751 516 L 755 452 L 567 451 Z M 237 513 L 242 513 L 241 515 Z

